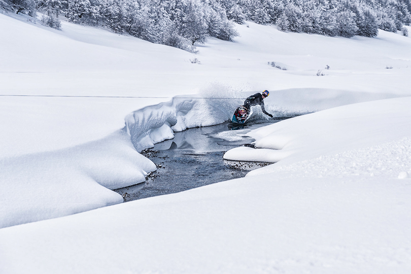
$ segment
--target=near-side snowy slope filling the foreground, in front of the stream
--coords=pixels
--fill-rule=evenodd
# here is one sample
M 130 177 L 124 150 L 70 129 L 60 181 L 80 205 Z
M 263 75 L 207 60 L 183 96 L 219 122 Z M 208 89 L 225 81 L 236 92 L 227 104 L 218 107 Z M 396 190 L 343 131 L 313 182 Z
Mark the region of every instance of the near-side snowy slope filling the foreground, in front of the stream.
M 316 156 L 301 146 L 286 164 L 246 178 L 1 229 L 0 270 L 407 273 L 411 179 L 397 176 L 411 170 L 411 132 L 404 127 L 411 110 L 401 107 L 410 100 L 357 104 L 281 122 L 284 128 L 310 123 L 317 126 L 304 128 L 310 139 L 324 140 L 326 133 L 338 140 L 324 144 L 326 156 L 300 161 L 301 155 Z M 370 138 L 365 130 L 357 130 L 355 140 L 340 138 L 335 129 L 359 129 L 369 121 L 346 119 L 348 107 L 362 113 L 382 104 L 397 107 L 385 115 L 391 123 L 369 129 L 384 131 L 385 140 Z M 301 134 L 290 138 L 300 139 Z

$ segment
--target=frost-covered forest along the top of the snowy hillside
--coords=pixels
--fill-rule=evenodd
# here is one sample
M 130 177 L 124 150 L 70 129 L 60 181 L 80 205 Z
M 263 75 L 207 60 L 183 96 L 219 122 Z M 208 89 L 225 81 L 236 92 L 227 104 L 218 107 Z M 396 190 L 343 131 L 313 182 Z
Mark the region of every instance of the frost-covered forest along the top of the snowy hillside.
M 396 32 L 411 23 L 411 0 L 0 0 L 0 10 L 36 16 L 59 29 L 61 18 L 153 43 L 195 51 L 197 43 L 238 36 L 233 22 L 351 38 Z

